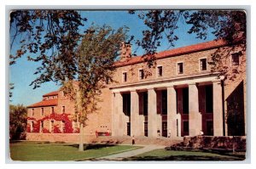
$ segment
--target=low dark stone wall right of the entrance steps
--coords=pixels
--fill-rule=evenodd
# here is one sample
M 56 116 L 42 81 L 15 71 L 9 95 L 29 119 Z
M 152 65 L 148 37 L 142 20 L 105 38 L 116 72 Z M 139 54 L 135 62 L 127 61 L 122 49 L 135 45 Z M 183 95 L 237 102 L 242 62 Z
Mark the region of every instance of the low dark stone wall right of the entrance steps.
M 192 149 L 241 149 L 246 150 L 246 137 L 195 136 L 183 138 L 183 146 Z

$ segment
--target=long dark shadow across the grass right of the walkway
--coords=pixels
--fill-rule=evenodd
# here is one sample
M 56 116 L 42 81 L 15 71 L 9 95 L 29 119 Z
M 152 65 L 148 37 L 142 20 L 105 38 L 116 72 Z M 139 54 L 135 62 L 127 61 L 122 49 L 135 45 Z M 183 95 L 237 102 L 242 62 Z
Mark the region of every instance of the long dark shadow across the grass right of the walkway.
M 245 157 L 234 156 L 206 156 L 206 155 L 171 155 L 165 157 L 157 156 L 134 156 L 122 159 L 122 161 L 243 161 Z

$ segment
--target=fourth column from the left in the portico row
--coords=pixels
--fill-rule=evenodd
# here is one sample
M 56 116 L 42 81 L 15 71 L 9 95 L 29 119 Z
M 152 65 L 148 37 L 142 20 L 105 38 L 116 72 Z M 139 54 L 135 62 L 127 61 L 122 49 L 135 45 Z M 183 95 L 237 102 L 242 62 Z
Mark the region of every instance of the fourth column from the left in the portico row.
M 167 135 L 171 130 L 171 138 L 177 137 L 177 100 L 176 90 L 167 87 Z

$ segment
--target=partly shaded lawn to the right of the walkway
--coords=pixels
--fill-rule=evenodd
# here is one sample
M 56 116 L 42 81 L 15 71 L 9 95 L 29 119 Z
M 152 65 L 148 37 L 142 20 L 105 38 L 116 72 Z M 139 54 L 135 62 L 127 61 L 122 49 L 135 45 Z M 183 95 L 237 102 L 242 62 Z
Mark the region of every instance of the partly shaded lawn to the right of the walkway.
M 242 161 L 245 153 L 221 155 L 200 151 L 177 151 L 155 149 L 142 155 L 123 159 L 123 161 Z

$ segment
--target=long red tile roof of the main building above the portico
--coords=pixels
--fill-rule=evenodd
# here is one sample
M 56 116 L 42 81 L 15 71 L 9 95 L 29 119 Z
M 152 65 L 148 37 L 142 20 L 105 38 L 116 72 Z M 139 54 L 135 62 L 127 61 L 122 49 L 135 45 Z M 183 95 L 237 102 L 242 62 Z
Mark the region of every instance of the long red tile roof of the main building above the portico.
M 156 59 L 163 59 L 167 57 L 173 57 L 181 54 L 189 54 L 189 53 L 194 53 L 194 52 L 199 52 L 202 50 L 207 50 L 211 48 L 218 48 L 227 45 L 226 42 L 223 40 L 218 40 L 218 41 L 210 41 L 210 42 L 201 42 L 197 43 L 195 45 L 190 45 L 182 48 L 174 48 L 171 50 L 166 50 L 163 52 L 160 52 L 158 54 L 155 54 Z M 116 67 L 124 66 L 124 65 L 133 65 L 137 63 L 142 63 L 143 57 L 142 56 L 137 56 L 137 57 L 132 57 L 131 59 L 126 59 L 125 61 L 117 61 L 115 62 Z

